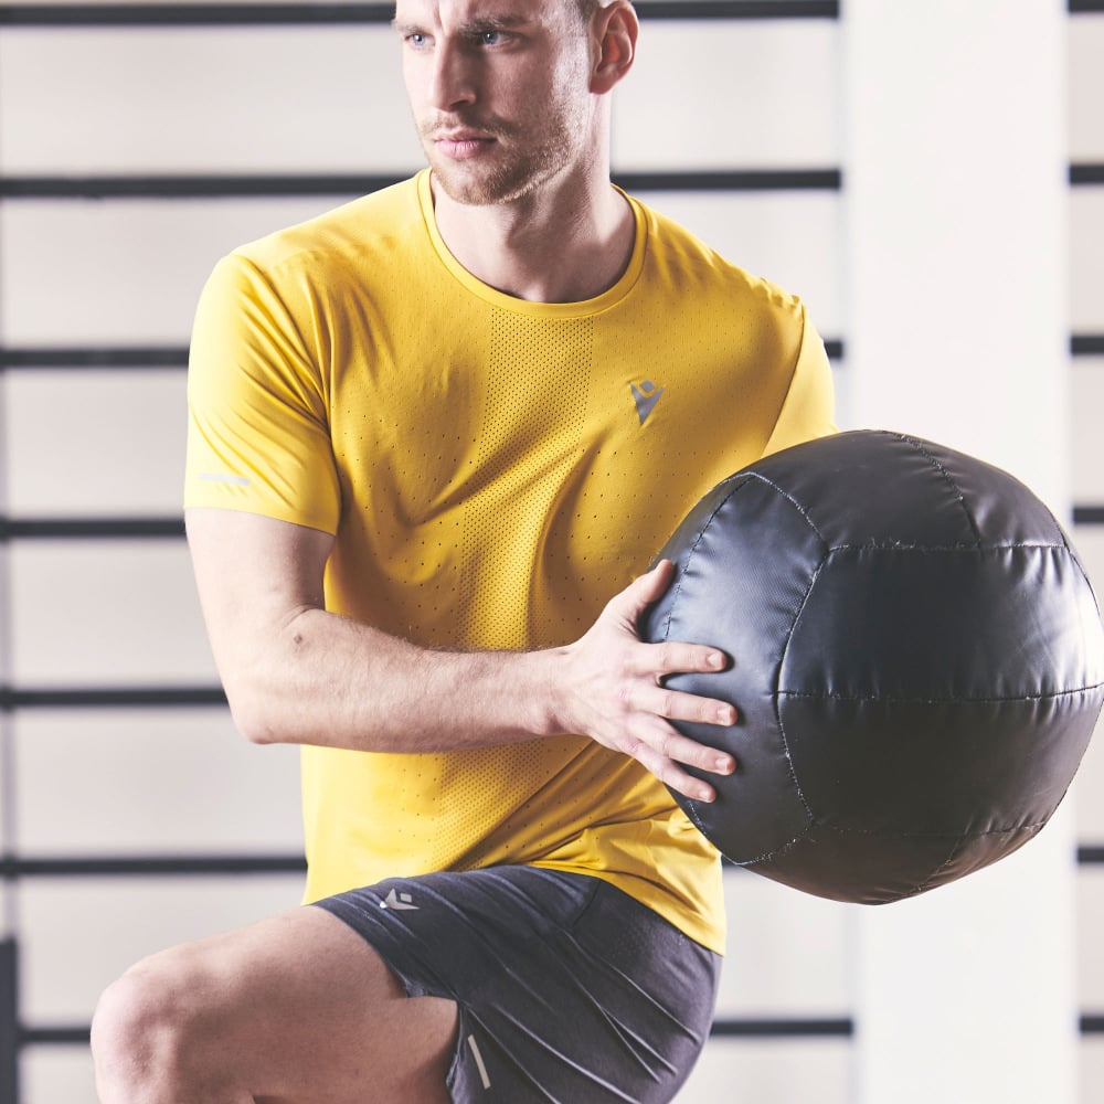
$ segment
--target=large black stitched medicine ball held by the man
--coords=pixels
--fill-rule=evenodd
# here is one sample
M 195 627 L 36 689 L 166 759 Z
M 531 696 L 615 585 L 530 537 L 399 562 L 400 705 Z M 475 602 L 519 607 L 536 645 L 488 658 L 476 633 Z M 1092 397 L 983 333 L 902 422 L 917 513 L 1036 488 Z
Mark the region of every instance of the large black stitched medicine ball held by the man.
M 1104 628 L 1047 508 L 931 442 L 861 431 L 731 476 L 660 553 L 649 640 L 723 648 L 739 763 L 712 804 L 676 794 L 732 861 L 879 903 L 1016 850 L 1045 825 L 1104 698 Z M 723 735 L 719 736 L 719 733 Z

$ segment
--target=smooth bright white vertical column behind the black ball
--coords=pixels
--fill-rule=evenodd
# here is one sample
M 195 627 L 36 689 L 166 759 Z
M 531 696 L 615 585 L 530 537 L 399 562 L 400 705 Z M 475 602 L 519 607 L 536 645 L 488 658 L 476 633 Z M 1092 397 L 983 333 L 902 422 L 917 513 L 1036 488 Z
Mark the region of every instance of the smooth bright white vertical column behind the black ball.
M 999 464 L 1069 507 L 1062 0 L 845 0 L 852 426 Z M 902 626 L 907 631 L 907 626 Z M 988 871 L 857 910 L 861 1104 L 1073 1104 L 1063 807 Z

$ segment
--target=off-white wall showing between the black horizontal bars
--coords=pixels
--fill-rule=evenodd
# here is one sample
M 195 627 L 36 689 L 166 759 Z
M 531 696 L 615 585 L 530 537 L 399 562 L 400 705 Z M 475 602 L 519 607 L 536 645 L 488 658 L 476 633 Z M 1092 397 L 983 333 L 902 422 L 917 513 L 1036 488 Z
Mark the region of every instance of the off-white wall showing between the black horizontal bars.
M 645 198 L 802 294 L 821 332 L 850 347 L 859 337 L 848 332 L 846 291 L 845 32 L 832 20 L 646 22 L 615 110 L 614 152 L 623 171 L 842 167 L 843 195 Z M 1104 161 L 1094 106 L 1104 97 L 1104 15 L 1070 17 L 1068 36 L 1070 157 Z M 417 164 L 385 28 L 0 23 L 0 178 Z M 222 252 L 338 199 L 4 200 L 0 343 L 182 347 Z M 1104 333 L 1104 189 L 1078 190 L 1070 221 L 1069 325 Z M 849 369 L 845 358 L 841 421 L 854 424 L 863 407 Z M 1104 503 L 1102 379 L 1102 359 L 1079 358 L 1070 371 L 1071 486 L 1083 503 Z M 180 369 L 10 367 L 0 386 L 9 516 L 179 512 Z M 1104 580 L 1104 529 L 1076 535 Z M 179 540 L 18 540 L 2 565 L 0 648 L 10 636 L 11 654 L 0 650 L 0 675 L 17 689 L 213 684 Z M 0 830 L 17 857 L 289 854 L 300 845 L 295 753 L 246 745 L 220 708 L 36 708 L 0 723 Z M 1094 749 L 1076 805 L 1083 842 L 1104 841 L 1101 795 L 1104 752 Z M 1076 882 L 1078 1005 L 1104 1010 L 1104 955 L 1091 934 L 1104 921 L 1104 868 L 1081 868 Z M 262 916 L 298 892 L 294 873 L 21 878 L 4 893 L 22 953 L 24 1026 L 87 1023 L 98 990 L 132 959 Z M 720 1016 L 856 1013 L 852 910 L 739 872 L 728 894 Z M 839 1037 L 716 1039 L 680 1098 L 846 1104 L 857 1100 L 854 1051 Z M 1080 1053 L 1081 1098 L 1104 1102 L 1104 1041 L 1086 1038 Z M 21 1104 L 94 1098 L 79 1045 L 29 1047 L 22 1072 Z

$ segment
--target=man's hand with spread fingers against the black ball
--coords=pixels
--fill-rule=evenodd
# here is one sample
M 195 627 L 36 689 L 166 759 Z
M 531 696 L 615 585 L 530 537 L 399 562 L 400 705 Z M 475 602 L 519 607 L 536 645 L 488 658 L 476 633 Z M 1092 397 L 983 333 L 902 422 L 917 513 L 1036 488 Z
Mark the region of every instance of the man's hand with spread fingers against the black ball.
M 703 645 L 645 644 L 637 636 L 640 616 L 667 590 L 672 573 L 673 564 L 665 560 L 611 598 L 591 629 L 561 649 L 560 682 L 551 690 L 561 703 L 564 731 L 631 755 L 680 794 L 711 802 L 716 796 L 713 787 L 679 764 L 731 774 L 735 760 L 683 736 L 669 722 L 734 724 L 736 711 L 728 702 L 670 690 L 662 680 L 680 672 L 723 670 L 728 657 Z

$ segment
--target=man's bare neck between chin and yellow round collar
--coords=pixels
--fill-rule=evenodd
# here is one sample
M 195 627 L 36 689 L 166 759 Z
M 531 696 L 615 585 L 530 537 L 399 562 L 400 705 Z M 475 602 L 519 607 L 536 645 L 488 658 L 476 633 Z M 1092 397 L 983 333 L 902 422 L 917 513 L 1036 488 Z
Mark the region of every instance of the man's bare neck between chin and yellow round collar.
M 433 180 L 431 178 L 431 184 Z M 534 302 L 578 302 L 601 295 L 628 267 L 633 210 L 602 174 L 509 203 L 457 203 L 433 188 L 437 230 L 477 279 Z

